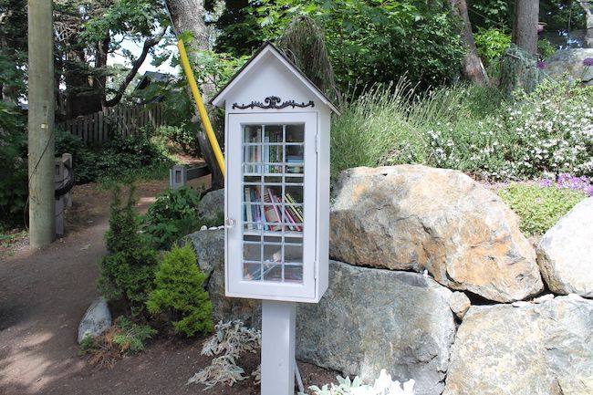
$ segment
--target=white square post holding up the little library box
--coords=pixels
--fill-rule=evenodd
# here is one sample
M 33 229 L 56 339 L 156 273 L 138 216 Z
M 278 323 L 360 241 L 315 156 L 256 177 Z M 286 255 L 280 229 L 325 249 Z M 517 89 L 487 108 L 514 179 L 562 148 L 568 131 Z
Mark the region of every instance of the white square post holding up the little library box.
M 262 395 L 295 395 L 296 303 L 262 301 Z

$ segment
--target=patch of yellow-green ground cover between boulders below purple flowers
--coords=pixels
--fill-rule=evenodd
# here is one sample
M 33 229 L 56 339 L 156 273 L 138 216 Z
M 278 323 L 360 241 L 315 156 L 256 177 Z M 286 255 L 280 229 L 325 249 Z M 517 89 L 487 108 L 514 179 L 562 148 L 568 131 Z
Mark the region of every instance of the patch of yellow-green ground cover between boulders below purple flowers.
M 498 191 L 498 195 L 519 215 L 519 227 L 528 235 L 545 234 L 561 216 L 587 197 L 582 191 L 515 183 Z

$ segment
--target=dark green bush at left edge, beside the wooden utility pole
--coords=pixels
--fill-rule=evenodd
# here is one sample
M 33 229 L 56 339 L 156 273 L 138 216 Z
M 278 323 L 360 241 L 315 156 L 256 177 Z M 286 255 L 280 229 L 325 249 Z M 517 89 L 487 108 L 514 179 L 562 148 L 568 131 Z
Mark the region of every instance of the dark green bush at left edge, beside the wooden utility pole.
M 27 196 L 24 117 L 16 107 L 0 101 L 0 228 L 22 220 Z

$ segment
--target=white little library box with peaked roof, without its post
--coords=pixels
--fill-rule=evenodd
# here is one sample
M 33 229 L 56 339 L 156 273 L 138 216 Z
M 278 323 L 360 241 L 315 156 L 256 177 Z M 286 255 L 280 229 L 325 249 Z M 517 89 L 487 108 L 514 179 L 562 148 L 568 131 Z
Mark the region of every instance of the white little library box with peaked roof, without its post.
M 317 303 L 328 288 L 337 109 L 271 44 L 213 104 L 226 110 L 226 296 Z

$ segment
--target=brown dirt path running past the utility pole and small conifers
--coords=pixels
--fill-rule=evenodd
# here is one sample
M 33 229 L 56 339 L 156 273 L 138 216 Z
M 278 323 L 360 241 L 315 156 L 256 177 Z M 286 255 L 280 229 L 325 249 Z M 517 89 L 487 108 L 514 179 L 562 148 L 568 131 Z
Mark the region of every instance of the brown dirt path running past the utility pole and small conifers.
M 146 210 L 167 183 L 142 182 L 139 208 Z M 98 263 L 106 250 L 109 192 L 75 187 L 68 234 L 47 246 L 0 257 L 0 395 L 29 394 L 258 394 L 251 380 L 234 387 L 185 385 L 210 363 L 201 338 L 161 338 L 112 369 L 95 369 L 78 357 L 78 321 L 98 296 Z M 257 357 L 244 361 L 247 373 Z M 300 364 L 305 385 L 322 384 L 333 372 Z

